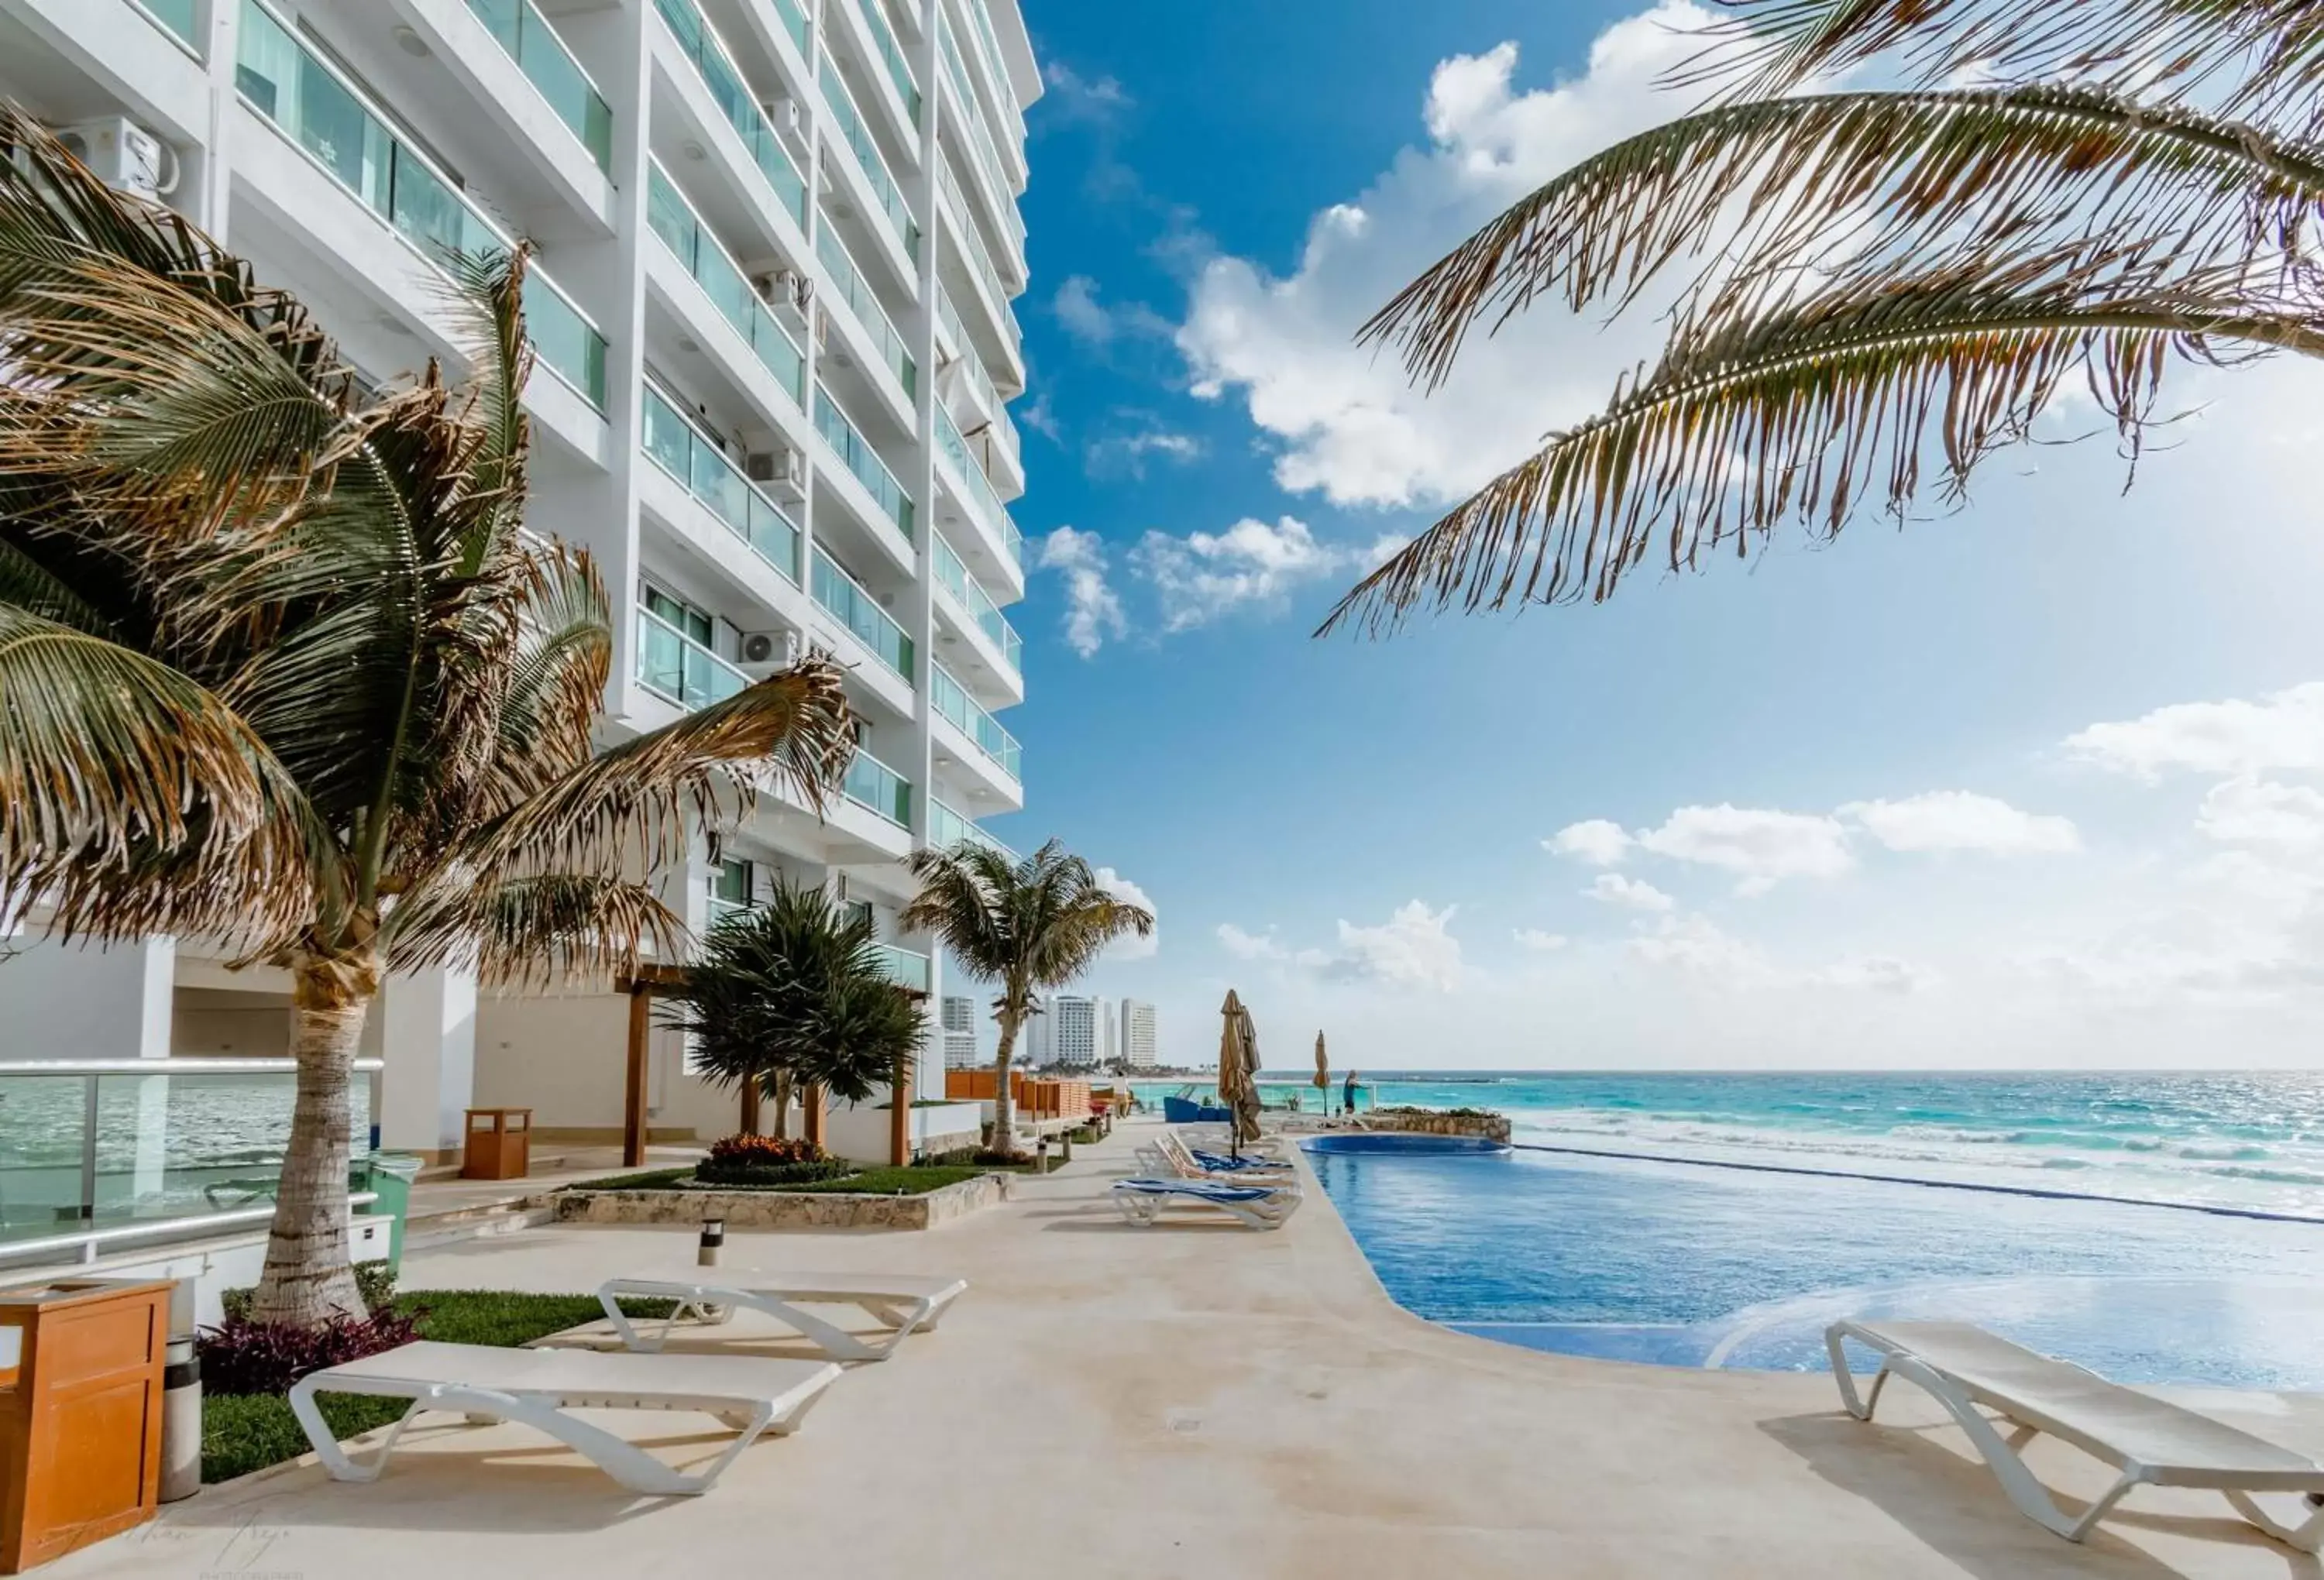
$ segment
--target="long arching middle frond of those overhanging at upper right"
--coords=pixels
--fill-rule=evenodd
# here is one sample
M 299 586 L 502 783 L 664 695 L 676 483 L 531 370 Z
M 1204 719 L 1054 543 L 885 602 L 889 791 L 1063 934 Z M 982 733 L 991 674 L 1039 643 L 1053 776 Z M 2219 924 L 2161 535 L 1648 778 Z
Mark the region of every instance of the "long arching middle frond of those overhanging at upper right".
M 1576 311 L 1706 249 L 1750 274 L 1813 258 L 1927 272 L 2078 237 L 2166 242 L 2199 274 L 2289 256 L 2324 204 L 2324 149 L 2075 88 L 1831 93 L 1720 105 L 1543 184 L 1406 286 L 1362 337 L 1427 386 L 1476 325 L 1552 295 Z

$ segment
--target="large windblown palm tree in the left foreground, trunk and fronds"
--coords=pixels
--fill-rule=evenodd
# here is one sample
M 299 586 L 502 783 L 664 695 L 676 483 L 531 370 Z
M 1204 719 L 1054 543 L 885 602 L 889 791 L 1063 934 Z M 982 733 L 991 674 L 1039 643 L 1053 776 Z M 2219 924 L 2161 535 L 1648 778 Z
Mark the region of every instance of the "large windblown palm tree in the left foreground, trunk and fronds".
M 216 939 L 293 981 L 297 1097 L 256 1315 L 360 1313 L 349 1076 L 388 971 L 634 971 L 634 876 L 851 755 L 809 662 L 593 753 L 586 555 L 521 534 L 525 258 L 456 258 L 474 376 L 370 393 L 307 311 L 0 109 L 0 897 L 51 934 Z

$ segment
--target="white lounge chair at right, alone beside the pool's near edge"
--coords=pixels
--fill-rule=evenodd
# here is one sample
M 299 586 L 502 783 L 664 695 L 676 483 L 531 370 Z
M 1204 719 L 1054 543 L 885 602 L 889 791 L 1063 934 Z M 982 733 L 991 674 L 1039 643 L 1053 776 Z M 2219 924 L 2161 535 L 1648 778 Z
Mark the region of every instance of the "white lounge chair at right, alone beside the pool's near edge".
M 1841 1350 L 1845 1338 L 1880 1357 L 1862 1401 Z M 2089 1536 L 2131 1487 L 2208 1487 L 2224 1492 L 2236 1513 L 2282 1543 L 2303 1552 L 2324 1543 L 2324 1510 L 2303 1501 L 2296 1520 L 2284 1522 L 2252 1496 L 2324 1494 L 2324 1466 L 2226 1422 L 2108 1382 L 2073 1362 L 2036 1355 L 1968 1322 L 1834 1322 L 1824 1345 L 1850 1415 L 1868 1422 L 1889 1376 L 1927 1389 L 2001 1478 L 2010 1503 L 2066 1541 Z M 2003 1438 L 1978 1406 L 2017 1429 Z M 2119 1471 L 2080 1517 L 2066 1515 L 2017 1457 L 2043 1431 Z

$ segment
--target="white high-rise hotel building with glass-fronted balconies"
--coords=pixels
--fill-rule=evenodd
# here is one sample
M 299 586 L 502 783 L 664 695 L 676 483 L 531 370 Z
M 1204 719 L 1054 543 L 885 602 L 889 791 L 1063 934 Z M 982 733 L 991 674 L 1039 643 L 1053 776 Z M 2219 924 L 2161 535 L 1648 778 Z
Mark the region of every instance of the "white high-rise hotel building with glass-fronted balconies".
M 607 741 L 802 648 L 865 718 L 844 802 L 762 804 L 669 899 L 702 927 L 779 876 L 844 888 L 934 997 L 892 925 L 902 860 L 1025 799 L 1006 402 L 1039 91 L 1016 0 L 0 0 L 0 93 L 295 290 L 372 379 L 458 372 L 446 249 L 537 246 L 530 525 L 614 595 Z M 286 1050 L 288 983 L 202 941 L 14 946 L 0 1073 Z M 604 1136 L 627 1022 L 616 992 L 390 981 L 370 1118 L 432 1155 L 488 1104 Z M 732 1129 L 672 1034 L 644 1080 L 658 1136 Z

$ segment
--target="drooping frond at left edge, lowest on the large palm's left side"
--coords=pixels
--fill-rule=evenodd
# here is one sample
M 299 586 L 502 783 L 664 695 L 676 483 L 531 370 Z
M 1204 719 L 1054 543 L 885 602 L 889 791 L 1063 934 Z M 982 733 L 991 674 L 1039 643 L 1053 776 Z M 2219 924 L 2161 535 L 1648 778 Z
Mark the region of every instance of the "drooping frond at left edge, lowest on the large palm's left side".
M 0 604 L 0 895 L 65 934 L 293 934 L 328 860 L 225 702 L 142 653 Z

